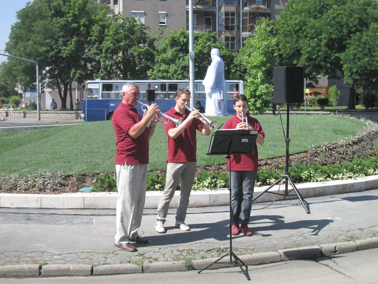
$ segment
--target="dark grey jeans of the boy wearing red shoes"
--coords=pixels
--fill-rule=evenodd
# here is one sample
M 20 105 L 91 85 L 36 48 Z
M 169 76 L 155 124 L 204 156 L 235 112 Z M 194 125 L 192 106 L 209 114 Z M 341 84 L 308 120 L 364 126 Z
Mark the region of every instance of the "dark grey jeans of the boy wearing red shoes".
M 248 225 L 257 172 L 231 171 L 232 225 Z

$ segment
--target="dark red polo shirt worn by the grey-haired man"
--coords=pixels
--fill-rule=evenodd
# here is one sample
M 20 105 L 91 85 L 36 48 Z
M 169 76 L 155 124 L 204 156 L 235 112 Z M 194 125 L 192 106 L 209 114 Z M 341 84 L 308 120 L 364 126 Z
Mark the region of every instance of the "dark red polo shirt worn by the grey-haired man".
M 116 165 L 148 164 L 147 127 L 136 138 L 129 135 L 130 129 L 141 120 L 142 117 L 138 111 L 124 103 L 119 103 L 118 108 L 114 111 L 112 123 L 116 134 Z

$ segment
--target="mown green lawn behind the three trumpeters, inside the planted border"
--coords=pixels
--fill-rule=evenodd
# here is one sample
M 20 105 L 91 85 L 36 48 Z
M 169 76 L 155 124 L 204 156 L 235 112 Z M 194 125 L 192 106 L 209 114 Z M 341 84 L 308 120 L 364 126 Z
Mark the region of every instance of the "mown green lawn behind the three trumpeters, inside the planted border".
M 285 155 L 285 140 L 279 116 L 256 115 L 266 137 L 258 145 L 259 158 Z M 215 117 L 218 126 L 228 117 Z M 286 131 L 286 116 L 282 117 Z M 355 134 L 364 123 L 326 115 L 290 116 L 290 153 L 308 150 L 324 142 L 333 142 Z M 223 126 L 222 126 L 223 127 Z M 224 156 L 207 156 L 210 136 L 197 132 L 197 164 L 225 164 Z M 0 133 L 0 173 L 36 174 L 38 170 L 65 174 L 99 173 L 115 170 L 115 135 L 110 121 L 81 125 L 55 126 L 40 130 Z M 157 125 L 150 140 L 149 169 L 166 168 L 167 136 Z

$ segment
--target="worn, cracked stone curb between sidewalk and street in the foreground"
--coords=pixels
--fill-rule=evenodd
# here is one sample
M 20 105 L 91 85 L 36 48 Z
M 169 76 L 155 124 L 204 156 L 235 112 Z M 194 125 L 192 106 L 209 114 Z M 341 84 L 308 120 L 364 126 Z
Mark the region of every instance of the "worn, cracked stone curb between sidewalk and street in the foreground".
M 333 256 L 336 254 L 350 253 L 353 251 L 378 248 L 378 237 L 350 242 L 328 243 L 310 247 L 288 248 L 279 251 L 242 255 L 239 258 L 246 265 L 262 265 L 274 262 L 282 262 L 297 259 L 316 259 L 318 257 Z M 146 263 L 143 267 L 134 264 L 113 264 L 92 266 L 87 264 L 47 264 L 41 268 L 38 264 L 4 265 L 0 266 L 0 278 L 14 277 L 57 277 L 57 276 L 96 276 L 130 273 L 153 273 L 153 272 L 175 272 L 187 270 L 201 270 L 218 258 L 207 258 L 192 261 L 190 267 L 184 261 L 153 262 Z M 235 267 L 236 264 L 229 263 L 229 256 L 211 265 L 208 269 Z M 41 271 L 40 271 L 41 270 Z

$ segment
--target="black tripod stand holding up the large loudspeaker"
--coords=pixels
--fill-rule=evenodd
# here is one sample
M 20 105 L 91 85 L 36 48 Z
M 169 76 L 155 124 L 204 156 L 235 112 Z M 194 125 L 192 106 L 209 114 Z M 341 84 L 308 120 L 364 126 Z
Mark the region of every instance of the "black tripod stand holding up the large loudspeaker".
M 297 187 L 293 183 L 293 181 L 290 178 L 290 173 L 289 173 L 289 104 L 287 104 L 287 113 L 286 113 L 286 139 L 285 139 L 285 144 L 286 144 L 286 157 L 285 157 L 285 174 L 282 175 L 279 179 L 277 179 L 271 186 L 269 186 L 267 189 L 263 190 L 259 195 L 256 197 L 252 198 L 252 201 L 256 200 L 259 198 L 261 195 L 263 195 L 265 192 L 271 193 L 271 194 L 276 194 L 276 195 L 281 195 L 281 196 L 295 196 L 294 194 L 289 194 L 292 190 L 296 193 L 298 199 L 301 201 L 303 208 L 305 209 L 307 214 L 310 214 L 310 207 L 308 206 L 308 203 L 303 199 L 301 193 L 298 191 Z M 270 192 L 269 190 L 275 186 L 276 184 L 280 183 L 282 179 L 285 179 L 285 193 L 273 193 Z M 291 190 L 288 190 L 288 182 L 290 182 L 291 186 L 293 187 Z

